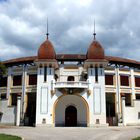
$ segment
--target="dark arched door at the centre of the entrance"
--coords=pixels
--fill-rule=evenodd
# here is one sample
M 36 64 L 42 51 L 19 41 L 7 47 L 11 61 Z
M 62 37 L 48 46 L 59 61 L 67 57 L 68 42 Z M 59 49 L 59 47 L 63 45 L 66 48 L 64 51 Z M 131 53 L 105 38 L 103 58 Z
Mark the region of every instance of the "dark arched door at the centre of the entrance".
M 77 109 L 68 106 L 65 110 L 65 126 L 77 126 Z

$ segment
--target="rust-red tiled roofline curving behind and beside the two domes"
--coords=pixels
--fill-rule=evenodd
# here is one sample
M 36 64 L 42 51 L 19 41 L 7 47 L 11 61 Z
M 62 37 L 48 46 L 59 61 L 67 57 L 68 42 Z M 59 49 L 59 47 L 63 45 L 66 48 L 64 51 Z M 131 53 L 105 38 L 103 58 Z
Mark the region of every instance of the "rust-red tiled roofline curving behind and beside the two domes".
M 2 63 L 5 65 L 29 64 L 29 63 L 33 63 L 36 59 L 37 59 L 37 56 L 20 57 L 20 58 L 2 61 Z M 112 63 L 112 64 L 126 65 L 130 67 L 140 68 L 140 61 L 121 58 L 121 57 L 114 57 L 114 56 L 105 56 L 105 59 L 109 61 L 109 63 Z M 85 54 L 57 54 L 56 60 L 58 61 L 85 61 L 86 55 Z

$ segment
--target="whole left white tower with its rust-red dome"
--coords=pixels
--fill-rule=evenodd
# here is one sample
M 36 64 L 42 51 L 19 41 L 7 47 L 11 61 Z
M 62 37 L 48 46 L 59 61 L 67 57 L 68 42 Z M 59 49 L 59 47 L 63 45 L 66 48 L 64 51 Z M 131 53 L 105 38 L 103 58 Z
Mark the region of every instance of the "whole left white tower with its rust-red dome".
M 36 125 L 53 122 L 51 112 L 51 98 L 55 92 L 55 68 L 58 67 L 53 44 L 48 39 L 40 45 L 35 63 L 37 72 L 37 100 L 36 100 Z M 50 120 L 49 122 L 47 120 Z

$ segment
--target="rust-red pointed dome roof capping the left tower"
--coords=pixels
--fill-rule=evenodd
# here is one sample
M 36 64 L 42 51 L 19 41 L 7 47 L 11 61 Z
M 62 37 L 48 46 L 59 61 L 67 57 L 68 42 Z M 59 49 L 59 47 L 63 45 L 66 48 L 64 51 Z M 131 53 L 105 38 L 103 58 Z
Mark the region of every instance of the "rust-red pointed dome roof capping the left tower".
M 38 59 L 55 59 L 56 53 L 52 43 L 47 39 L 38 49 Z

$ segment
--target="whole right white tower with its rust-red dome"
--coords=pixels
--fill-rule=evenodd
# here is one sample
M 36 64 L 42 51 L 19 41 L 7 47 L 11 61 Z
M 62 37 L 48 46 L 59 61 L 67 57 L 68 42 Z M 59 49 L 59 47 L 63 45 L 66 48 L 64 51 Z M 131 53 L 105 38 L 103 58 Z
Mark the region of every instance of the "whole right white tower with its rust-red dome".
M 105 74 L 104 68 L 107 66 L 104 49 L 95 39 L 90 44 L 84 67 L 87 69 L 89 87 L 87 92 L 91 98 L 91 120 L 92 125 L 106 125 L 106 101 L 105 101 Z

